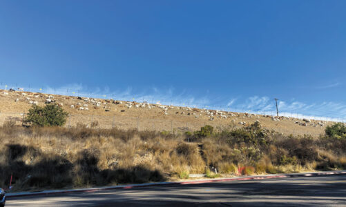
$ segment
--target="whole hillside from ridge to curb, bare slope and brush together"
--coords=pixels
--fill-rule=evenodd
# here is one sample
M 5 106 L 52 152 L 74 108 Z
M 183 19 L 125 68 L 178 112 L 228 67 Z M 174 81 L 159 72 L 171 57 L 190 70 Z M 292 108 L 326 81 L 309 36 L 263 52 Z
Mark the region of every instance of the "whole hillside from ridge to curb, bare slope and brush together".
M 45 101 L 72 127 L 21 127 Z M 320 121 L 15 91 L 1 91 L 0 110 L 0 186 L 12 178 L 14 191 L 346 168 L 345 139 L 289 135 L 317 137 L 331 124 Z

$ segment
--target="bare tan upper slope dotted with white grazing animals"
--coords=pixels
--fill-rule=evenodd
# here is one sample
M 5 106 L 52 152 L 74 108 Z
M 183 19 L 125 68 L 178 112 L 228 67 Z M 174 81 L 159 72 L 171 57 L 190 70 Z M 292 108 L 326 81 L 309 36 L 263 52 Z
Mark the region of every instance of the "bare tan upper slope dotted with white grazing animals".
M 32 104 L 44 106 L 46 101 L 59 104 L 70 114 L 66 126 L 77 124 L 90 126 L 91 123 L 97 123 L 99 128 L 186 131 L 198 130 L 206 124 L 215 128 L 240 127 L 258 120 L 263 127 L 285 135 L 309 134 L 316 137 L 324 132 L 325 126 L 332 124 L 330 121 L 329 123 L 319 120 L 304 121 L 289 117 L 164 106 L 160 103 L 138 103 L 10 90 L 0 90 L 0 124 L 9 119 L 21 124 L 23 116 Z

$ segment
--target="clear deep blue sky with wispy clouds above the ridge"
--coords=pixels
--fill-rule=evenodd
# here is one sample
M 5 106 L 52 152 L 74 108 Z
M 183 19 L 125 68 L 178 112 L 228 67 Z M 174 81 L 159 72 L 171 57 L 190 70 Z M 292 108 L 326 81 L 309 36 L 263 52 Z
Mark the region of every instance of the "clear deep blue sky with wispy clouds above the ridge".
M 346 1 L 1 1 L 4 85 L 346 119 Z

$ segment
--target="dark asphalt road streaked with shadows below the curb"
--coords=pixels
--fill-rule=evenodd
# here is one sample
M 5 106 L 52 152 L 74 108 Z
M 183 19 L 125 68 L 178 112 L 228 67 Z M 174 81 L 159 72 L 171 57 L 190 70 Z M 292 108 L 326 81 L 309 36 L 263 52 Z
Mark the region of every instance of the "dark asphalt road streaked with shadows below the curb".
M 8 199 L 6 206 L 346 206 L 346 176 L 152 186 Z

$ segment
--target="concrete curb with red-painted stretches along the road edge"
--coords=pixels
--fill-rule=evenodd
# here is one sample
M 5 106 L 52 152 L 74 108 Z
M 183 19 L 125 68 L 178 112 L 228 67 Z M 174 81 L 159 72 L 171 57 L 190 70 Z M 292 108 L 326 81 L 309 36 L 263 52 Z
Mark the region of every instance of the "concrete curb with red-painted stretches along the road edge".
M 75 190 L 44 190 L 41 192 L 23 192 L 23 193 L 7 193 L 6 198 L 12 197 L 28 197 L 39 195 L 56 195 L 63 193 L 90 193 L 101 190 L 117 190 L 117 189 L 131 189 L 131 188 L 145 188 L 151 186 L 164 186 L 164 185 L 189 185 L 189 184 L 206 184 L 222 181 L 242 181 L 242 180 L 257 180 L 257 179 L 274 179 L 274 178 L 289 178 L 289 177 L 316 177 L 321 175 L 346 175 L 346 170 L 342 171 L 328 171 L 328 172 L 307 172 L 307 173 L 294 173 L 294 174 L 278 174 L 278 175 L 261 175 L 261 176 L 246 176 L 246 177 L 230 177 L 230 178 L 218 178 L 218 179 L 200 179 L 194 181 L 177 181 L 177 182 L 160 182 L 149 184 L 132 184 L 124 186 L 110 186 L 101 188 L 82 188 Z

